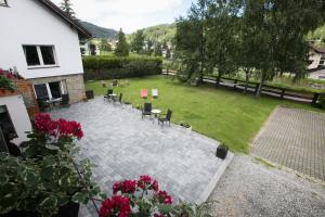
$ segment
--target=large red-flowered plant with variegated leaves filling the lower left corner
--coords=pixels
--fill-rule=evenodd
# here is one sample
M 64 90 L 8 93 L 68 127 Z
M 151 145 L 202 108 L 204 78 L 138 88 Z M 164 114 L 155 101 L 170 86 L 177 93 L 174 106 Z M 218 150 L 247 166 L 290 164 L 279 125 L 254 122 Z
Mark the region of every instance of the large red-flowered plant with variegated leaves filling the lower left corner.
M 0 215 L 77 217 L 79 203 L 99 196 L 91 163 L 76 159 L 82 136 L 79 123 L 36 115 L 22 156 L 1 156 Z

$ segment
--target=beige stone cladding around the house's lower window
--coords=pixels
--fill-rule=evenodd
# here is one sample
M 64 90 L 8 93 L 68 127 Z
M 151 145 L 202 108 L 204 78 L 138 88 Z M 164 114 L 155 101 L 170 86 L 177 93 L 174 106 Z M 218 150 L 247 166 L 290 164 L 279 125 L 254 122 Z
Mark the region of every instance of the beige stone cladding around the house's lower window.
M 64 92 L 69 94 L 70 103 L 80 102 L 86 98 L 82 74 L 44 77 L 44 78 L 34 78 L 34 79 L 29 79 L 29 80 L 34 85 L 62 81 Z

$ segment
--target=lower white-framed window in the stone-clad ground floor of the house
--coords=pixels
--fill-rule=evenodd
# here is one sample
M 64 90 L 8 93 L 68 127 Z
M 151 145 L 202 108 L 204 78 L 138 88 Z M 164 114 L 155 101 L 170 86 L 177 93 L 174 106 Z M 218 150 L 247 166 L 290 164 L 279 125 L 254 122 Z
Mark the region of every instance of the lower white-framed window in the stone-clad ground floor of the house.
M 41 100 L 57 99 L 64 94 L 62 81 L 34 85 L 34 90 L 36 98 Z

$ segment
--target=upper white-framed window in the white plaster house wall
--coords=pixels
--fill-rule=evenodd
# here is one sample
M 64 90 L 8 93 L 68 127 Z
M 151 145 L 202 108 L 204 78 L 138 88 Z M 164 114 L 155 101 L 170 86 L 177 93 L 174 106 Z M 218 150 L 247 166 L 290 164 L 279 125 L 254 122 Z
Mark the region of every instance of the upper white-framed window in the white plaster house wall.
M 30 67 L 55 66 L 54 46 L 23 46 L 27 65 Z

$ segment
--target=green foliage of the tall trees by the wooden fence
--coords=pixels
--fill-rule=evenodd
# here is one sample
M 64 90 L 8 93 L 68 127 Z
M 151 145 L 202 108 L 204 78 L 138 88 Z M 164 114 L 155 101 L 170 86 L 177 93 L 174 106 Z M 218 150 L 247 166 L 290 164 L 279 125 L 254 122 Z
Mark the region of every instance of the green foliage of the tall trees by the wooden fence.
M 219 77 L 240 67 L 253 71 L 262 85 L 276 75 L 295 79 L 307 74 L 306 35 L 324 22 L 318 0 L 198 0 L 177 23 L 177 51 L 185 75 L 218 71 Z

